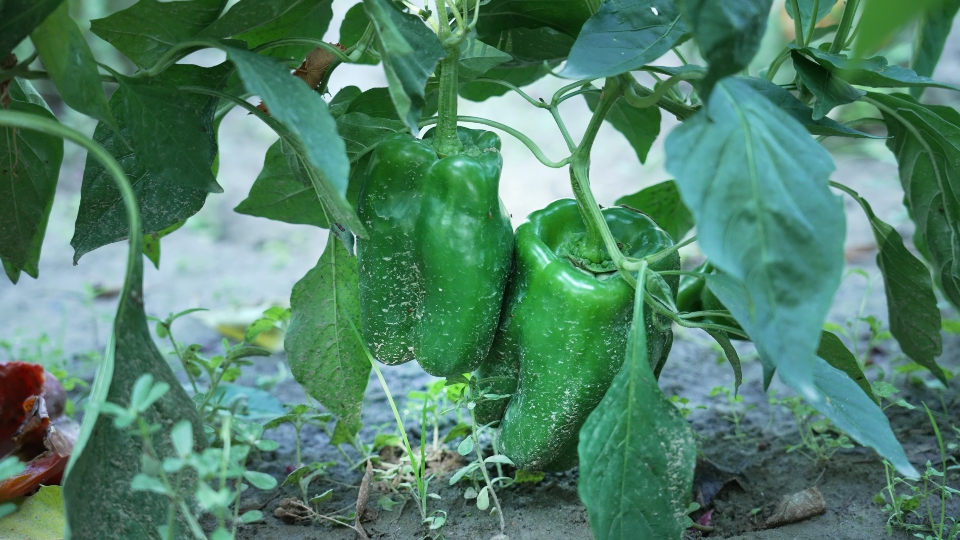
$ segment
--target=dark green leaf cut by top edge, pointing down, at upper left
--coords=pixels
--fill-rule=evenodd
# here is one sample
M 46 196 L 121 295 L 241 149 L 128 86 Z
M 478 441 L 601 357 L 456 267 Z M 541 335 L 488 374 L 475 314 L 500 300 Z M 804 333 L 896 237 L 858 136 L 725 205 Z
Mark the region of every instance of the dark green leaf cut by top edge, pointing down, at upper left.
M 120 50 L 137 67 L 153 67 L 174 45 L 217 19 L 226 0 L 161 2 L 140 0 L 127 9 L 90 21 L 90 31 Z

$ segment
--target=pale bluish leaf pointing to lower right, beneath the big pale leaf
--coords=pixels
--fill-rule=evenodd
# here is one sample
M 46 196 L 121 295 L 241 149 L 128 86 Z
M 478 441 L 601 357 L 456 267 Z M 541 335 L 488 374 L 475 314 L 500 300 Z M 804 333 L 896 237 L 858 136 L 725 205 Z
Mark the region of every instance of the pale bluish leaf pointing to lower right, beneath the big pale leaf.
M 705 277 L 710 291 L 730 310 L 747 334 L 751 337 L 756 335 L 758 329 L 754 326 L 750 313 L 750 305 L 754 297 L 747 292 L 743 284 L 723 274 L 708 274 Z M 876 450 L 901 474 L 915 478 L 917 470 L 907 460 L 903 447 L 900 446 L 890 428 L 890 422 L 874 401 L 872 392 L 863 388 L 859 367 L 856 370 L 852 369 L 849 358 L 844 359 L 842 352 L 836 347 L 837 343 L 829 337 L 829 333 L 821 333 L 817 340 L 820 343 L 818 355 L 826 356 L 829 363 L 819 356 L 813 359 L 812 384 L 800 385 L 796 378 L 785 376 L 782 362 L 779 362 L 781 369 L 778 370 L 780 380 L 793 388 L 807 403 L 852 439 Z M 839 345 L 843 346 L 842 343 Z M 772 366 L 775 359 L 759 348 L 758 352 L 764 366 L 764 385 L 766 386 L 769 384 L 769 378 L 773 376 Z M 856 359 L 853 361 L 856 362 Z

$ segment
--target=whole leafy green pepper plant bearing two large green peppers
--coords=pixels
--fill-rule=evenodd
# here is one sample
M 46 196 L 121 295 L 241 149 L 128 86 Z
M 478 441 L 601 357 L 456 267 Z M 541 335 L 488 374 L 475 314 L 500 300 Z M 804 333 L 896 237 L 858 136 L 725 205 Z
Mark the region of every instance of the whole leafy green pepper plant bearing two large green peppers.
M 6 275 L 14 284 L 39 275 L 63 140 L 87 151 L 74 260 L 129 244 L 91 403 L 126 407 L 150 374 L 170 390 L 143 421 L 202 432 L 151 340 L 141 253 L 159 264 L 162 238 L 223 191 L 217 163 L 231 156 L 219 154 L 217 128 L 240 107 L 279 140 L 236 211 L 333 233 L 292 291 L 285 347 L 294 376 L 337 419 L 334 444 L 361 427 L 370 358 L 416 358 L 488 397 L 477 415 L 499 425 L 508 461 L 578 463 L 597 538 L 680 538 L 696 452 L 656 381 L 680 325 L 717 340 L 736 385 L 731 339 L 752 341 L 765 386 L 778 376 L 851 439 L 918 476 L 856 358 L 822 328 L 843 271 L 849 197 L 876 238 L 893 337 L 946 378 L 937 291 L 960 306 L 960 115 L 921 98 L 929 87 L 958 90 L 930 76 L 960 1 L 787 0 L 795 37 L 759 68 L 772 0 L 362 0 L 339 21 L 336 44 L 322 40 L 331 3 L 139 0 L 90 26 L 128 64 L 97 58 L 62 0 L 0 1 Z M 822 24 L 828 16 L 837 23 Z M 905 26 L 913 58 L 890 65 L 876 52 Z M 179 63 L 204 49 L 225 60 Z M 382 65 L 388 86 L 330 95 L 350 63 Z M 549 102 L 523 91 L 544 77 L 569 84 Z M 92 138 L 54 117 L 35 79 L 98 121 Z M 460 99 L 506 92 L 550 114 L 569 155 L 551 160 L 507 119 L 457 114 Z M 563 121 L 571 99 L 593 111 L 583 134 Z M 853 103 L 872 115 L 829 115 Z M 675 180 L 601 211 L 589 178 L 600 126 L 619 130 L 643 161 L 664 113 L 681 122 L 665 141 Z M 574 198 L 534 213 L 515 236 L 497 194 L 495 132 L 570 172 Z M 831 177 L 820 144 L 830 137 L 885 138 L 915 250 Z M 677 251 L 693 242 L 709 263 L 680 270 Z M 140 444 L 98 410 L 88 409 L 67 469 L 67 533 L 157 537 L 152 524 L 168 523 L 167 499 L 180 496 L 133 489 Z M 158 439 L 157 459 L 183 451 L 168 439 Z M 187 534 L 182 517 L 162 531 Z

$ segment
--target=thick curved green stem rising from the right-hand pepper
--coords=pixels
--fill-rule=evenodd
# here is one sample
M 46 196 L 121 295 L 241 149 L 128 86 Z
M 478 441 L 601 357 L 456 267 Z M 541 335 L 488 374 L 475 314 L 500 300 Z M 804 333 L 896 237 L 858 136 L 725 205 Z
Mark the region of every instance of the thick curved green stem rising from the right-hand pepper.
M 616 259 L 622 258 L 620 251 L 616 249 L 616 240 L 610 233 L 610 228 L 607 227 L 596 199 L 593 198 L 593 192 L 590 191 L 590 150 L 593 148 L 593 142 L 597 138 L 604 117 L 619 97 L 620 82 L 614 77 L 608 78 L 604 84 L 603 93 L 600 94 L 600 102 L 587 125 L 583 140 L 580 141 L 580 146 L 573 152 L 570 160 L 570 184 L 573 187 L 577 206 L 580 207 L 580 217 L 587 229 L 586 237 L 579 246 L 578 255 L 598 264 L 606 259 L 614 259 L 616 262 Z

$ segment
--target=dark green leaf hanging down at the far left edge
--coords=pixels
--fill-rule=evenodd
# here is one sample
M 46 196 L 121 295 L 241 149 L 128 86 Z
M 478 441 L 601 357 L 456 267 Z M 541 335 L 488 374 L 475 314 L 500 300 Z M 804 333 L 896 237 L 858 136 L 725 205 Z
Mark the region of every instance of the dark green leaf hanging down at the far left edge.
M 11 111 L 56 120 L 29 81 L 8 87 Z M 0 258 L 16 283 L 20 272 L 40 274 L 40 248 L 57 191 L 63 141 L 27 129 L 0 128 Z

